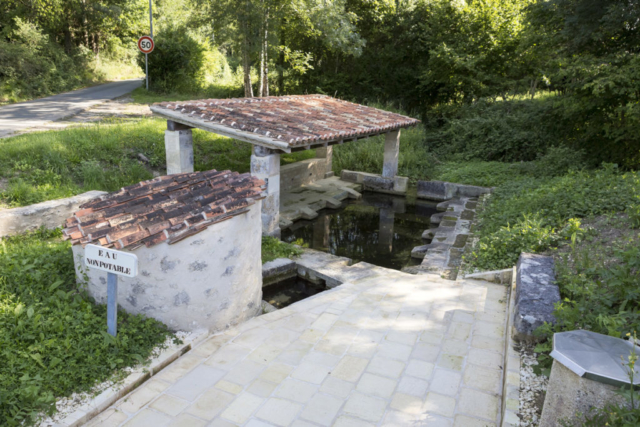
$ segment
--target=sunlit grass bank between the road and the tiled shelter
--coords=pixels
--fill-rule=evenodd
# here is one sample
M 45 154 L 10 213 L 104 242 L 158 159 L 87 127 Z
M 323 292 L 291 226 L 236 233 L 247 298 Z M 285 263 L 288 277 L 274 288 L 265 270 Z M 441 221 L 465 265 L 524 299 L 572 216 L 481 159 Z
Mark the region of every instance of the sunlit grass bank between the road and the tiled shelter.
M 0 204 L 25 206 L 89 190 L 114 191 L 166 171 L 166 122 L 110 121 L 0 140 Z M 251 146 L 210 132 L 193 131 L 196 170 L 250 169 Z M 138 159 L 144 154 L 149 163 Z M 286 154 L 282 164 L 313 157 Z

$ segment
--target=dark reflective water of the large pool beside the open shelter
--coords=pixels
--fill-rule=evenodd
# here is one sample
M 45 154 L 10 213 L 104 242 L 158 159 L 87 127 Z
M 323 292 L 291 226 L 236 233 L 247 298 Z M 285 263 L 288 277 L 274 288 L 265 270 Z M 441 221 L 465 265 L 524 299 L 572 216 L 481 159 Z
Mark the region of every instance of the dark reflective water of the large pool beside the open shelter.
M 435 204 L 376 193 L 349 200 L 340 209 L 324 209 L 312 221 L 297 221 L 282 231 L 282 240 L 304 240 L 309 247 L 401 269 L 413 265 L 411 250 L 423 245 Z

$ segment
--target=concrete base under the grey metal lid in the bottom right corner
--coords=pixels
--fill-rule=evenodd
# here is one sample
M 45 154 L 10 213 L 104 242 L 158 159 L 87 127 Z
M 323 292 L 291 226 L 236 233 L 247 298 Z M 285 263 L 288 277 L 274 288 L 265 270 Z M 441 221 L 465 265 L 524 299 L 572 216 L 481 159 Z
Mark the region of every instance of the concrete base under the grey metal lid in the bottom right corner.
M 555 427 L 562 419 L 579 423 L 580 419 L 575 418 L 578 413 L 584 420 L 592 408 L 602 408 L 610 402 L 628 406 L 626 399 L 617 394 L 618 390 L 619 387 L 579 377 L 554 360 L 539 427 Z

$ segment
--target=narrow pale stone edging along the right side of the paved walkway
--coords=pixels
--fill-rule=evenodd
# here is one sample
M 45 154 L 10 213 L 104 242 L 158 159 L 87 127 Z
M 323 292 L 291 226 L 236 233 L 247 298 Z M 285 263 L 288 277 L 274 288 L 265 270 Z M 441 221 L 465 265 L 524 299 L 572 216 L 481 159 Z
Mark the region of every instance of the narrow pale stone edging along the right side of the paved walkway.
M 505 270 L 503 270 L 505 271 Z M 520 425 L 518 412 L 520 410 L 520 352 L 513 339 L 511 329 L 515 315 L 516 299 L 516 267 L 511 269 L 511 283 L 509 284 L 509 305 L 507 308 L 507 328 L 504 353 L 504 378 L 502 383 L 502 420 L 500 427 L 515 427 Z

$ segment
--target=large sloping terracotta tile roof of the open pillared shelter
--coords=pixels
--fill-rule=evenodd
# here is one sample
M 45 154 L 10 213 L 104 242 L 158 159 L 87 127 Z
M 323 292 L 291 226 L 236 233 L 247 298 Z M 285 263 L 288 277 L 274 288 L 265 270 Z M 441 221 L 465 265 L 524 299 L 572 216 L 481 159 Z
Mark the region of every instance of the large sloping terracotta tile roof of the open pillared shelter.
M 253 136 L 256 141 L 249 142 L 258 145 L 270 140 L 288 147 L 377 135 L 420 122 L 325 95 L 161 102 L 151 109 L 190 126 L 210 123 L 244 134 L 247 139 Z

